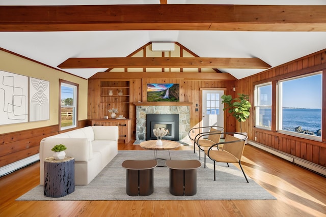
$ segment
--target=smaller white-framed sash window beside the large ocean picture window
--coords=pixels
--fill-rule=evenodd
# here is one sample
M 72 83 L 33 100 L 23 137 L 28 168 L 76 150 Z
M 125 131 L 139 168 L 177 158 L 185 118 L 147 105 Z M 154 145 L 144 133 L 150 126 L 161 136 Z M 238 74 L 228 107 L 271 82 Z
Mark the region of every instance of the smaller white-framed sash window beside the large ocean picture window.
M 271 83 L 260 84 L 255 89 L 255 127 L 271 127 Z

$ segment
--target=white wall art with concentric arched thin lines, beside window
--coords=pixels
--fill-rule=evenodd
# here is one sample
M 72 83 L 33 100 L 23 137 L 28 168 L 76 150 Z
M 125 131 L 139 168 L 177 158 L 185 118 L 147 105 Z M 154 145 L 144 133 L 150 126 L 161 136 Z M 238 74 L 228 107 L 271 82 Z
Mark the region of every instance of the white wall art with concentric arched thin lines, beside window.
M 50 82 L 30 77 L 30 121 L 50 118 Z

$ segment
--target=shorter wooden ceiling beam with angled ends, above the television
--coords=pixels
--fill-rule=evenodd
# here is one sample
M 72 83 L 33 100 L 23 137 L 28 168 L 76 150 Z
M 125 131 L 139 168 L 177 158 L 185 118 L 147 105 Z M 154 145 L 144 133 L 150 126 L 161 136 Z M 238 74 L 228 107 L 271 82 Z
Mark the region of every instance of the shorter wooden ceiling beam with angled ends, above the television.
M 86 68 L 220 68 L 268 69 L 271 66 L 259 58 L 211 57 L 102 57 L 68 58 L 61 69 Z

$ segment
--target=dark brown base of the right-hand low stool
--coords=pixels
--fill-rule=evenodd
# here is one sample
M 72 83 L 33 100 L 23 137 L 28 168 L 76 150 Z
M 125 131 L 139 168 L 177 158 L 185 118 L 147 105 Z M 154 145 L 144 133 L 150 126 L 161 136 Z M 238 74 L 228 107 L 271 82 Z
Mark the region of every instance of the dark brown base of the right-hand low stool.
M 170 193 L 175 196 L 193 196 L 197 193 L 197 169 L 170 168 Z

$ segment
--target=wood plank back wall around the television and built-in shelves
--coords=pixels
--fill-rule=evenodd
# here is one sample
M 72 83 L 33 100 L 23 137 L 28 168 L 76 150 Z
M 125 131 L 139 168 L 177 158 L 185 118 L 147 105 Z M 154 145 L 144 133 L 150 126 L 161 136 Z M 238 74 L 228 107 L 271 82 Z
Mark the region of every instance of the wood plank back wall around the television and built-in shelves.
M 212 80 L 189 80 L 173 78 L 169 73 L 166 73 L 166 78 L 130 78 L 130 105 L 129 105 L 129 118 L 132 119 L 132 135 L 135 131 L 135 106 L 133 102 L 146 102 L 147 101 L 147 83 L 179 83 L 180 84 L 180 102 L 191 102 L 191 127 L 198 126 L 201 121 L 201 111 L 195 111 L 195 108 L 201 108 L 200 88 L 227 88 L 226 94 L 234 95 L 233 87 L 234 81 L 212 81 Z M 126 81 L 126 79 L 113 78 L 110 79 L 89 79 L 88 83 L 88 118 L 97 119 L 102 118 L 101 107 L 99 102 L 100 96 L 100 81 Z M 196 104 L 198 105 L 196 107 Z M 228 124 L 228 131 L 234 131 L 235 128 L 234 118 L 230 118 Z

